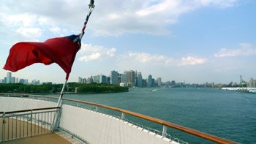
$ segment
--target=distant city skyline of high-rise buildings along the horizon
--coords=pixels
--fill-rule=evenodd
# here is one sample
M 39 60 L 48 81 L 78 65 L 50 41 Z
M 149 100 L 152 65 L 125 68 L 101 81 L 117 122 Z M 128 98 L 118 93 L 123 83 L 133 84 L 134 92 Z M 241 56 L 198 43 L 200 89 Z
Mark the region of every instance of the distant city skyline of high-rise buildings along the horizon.
M 116 73 L 116 83 L 112 82 L 112 72 Z M 127 75 L 128 72 L 132 72 L 132 75 Z M 124 77 L 125 78 L 124 78 Z M 128 78 L 130 77 L 130 78 Z M 132 78 L 131 78 L 132 77 Z M 130 79 L 130 80 L 128 80 Z M 133 80 L 132 80 L 133 79 Z M 149 85 L 148 85 L 148 81 Z M 228 85 L 228 86 L 249 86 L 252 88 L 256 87 L 256 78 L 254 77 L 250 77 L 249 80 L 244 80 L 243 76 L 240 75 L 239 76 L 239 82 L 236 81 L 230 81 L 229 83 L 214 83 L 214 82 L 206 82 L 206 83 L 187 83 L 186 81 L 176 81 L 176 80 L 167 80 L 167 81 L 162 81 L 162 77 L 152 77 L 152 75 L 148 75 L 148 77 L 146 76 L 145 78 L 143 78 L 141 72 L 138 72 L 137 70 L 129 70 L 129 71 L 124 71 L 124 73 L 118 73 L 115 70 L 112 70 L 110 72 L 110 75 L 106 76 L 106 75 L 91 75 L 89 77 L 78 77 L 77 81 L 71 81 L 71 82 L 75 82 L 75 83 L 109 83 L 109 84 L 114 84 L 114 85 L 120 85 L 120 86 L 136 86 L 136 87 L 156 87 L 156 86 L 162 86 L 167 85 L 167 86 L 174 86 L 176 84 L 178 84 L 178 86 L 181 85 L 189 85 L 189 86 L 212 86 L 214 87 L 214 85 L 217 86 L 222 86 L 222 85 Z M 23 83 L 23 84 L 32 84 L 32 85 L 40 85 L 42 83 L 53 83 L 52 81 L 43 81 L 40 82 L 40 80 L 36 80 L 33 79 L 31 80 L 31 82 L 28 79 L 23 79 L 20 77 L 12 77 L 12 72 L 7 72 L 7 76 L 3 77 L 1 79 L 0 77 L 0 83 Z M 132 84 L 131 84 L 132 83 Z M 58 84 L 58 83 L 56 83 Z

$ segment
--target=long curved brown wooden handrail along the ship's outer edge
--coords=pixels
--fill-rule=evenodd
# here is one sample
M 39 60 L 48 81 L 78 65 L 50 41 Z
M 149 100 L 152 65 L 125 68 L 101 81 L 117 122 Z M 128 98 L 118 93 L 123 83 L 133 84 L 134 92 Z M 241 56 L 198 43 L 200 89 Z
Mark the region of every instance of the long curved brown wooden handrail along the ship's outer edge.
M 34 97 L 42 97 L 42 98 L 49 98 L 49 99 L 58 99 L 55 96 L 40 96 L 40 95 L 32 95 L 32 94 L 7 94 L 7 93 L 0 93 L 0 94 L 2 94 L 2 95 L 12 95 L 12 96 L 34 96 Z M 215 142 L 215 143 L 230 143 L 230 144 L 231 143 L 236 143 L 234 141 L 227 140 L 227 139 L 224 139 L 222 137 L 217 137 L 217 136 L 214 136 L 212 134 L 207 134 L 205 132 L 200 132 L 200 131 L 197 131 L 195 129 L 190 129 L 190 128 L 187 128 L 185 126 L 170 123 L 168 121 L 163 121 L 159 118 L 153 118 L 153 117 L 150 117 L 148 115 L 142 115 L 140 113 L 131 112 L 129 110 L 123 110 L 123 109 L 117 108 L 117 107 L 110 107 L 110 106 L 107 106 L 107 105 L 99 105 L 97 103 L 85 102 L 85 101 L 80 101 L 80 100 L 75 100 L 75 99 L 62 98 L 62 100 L 67 100 L 67 101 L 70 101 L 70 102 L 78 102 L 78 103 L 82 103 L 82 104 L 86 104 L 86 105 L 94 105 L 94 106 L 97 106 L 97 107 L 103 107 L 103 108 L 106 108 L 108 110 L 115 110 L 115 111 L 118 111 L 118 112 L 122 113 L 122 117 L 123 117 L 123 113 L 125 113 L 125 114 L 129 114 L 129 115 L 133 115 L 133 116 L 138 117 L 138 118 L 143 118 L 147 121 L 152 121 L 152 122 L 157 123 L 157 124 L 162 124 L 163 125 L 163 131 L 162 131 L 163 134 L 162 134 L 162 136 L 164 136 L 164 137 L 165 137 L 165 134 L 167 132 L 167 126 L 168 126 L 170 128 L 178 129 L 179 131 L 195 135 L 197 137 L 202 137 L 203 139 L 210 140 L 210 141 Z

